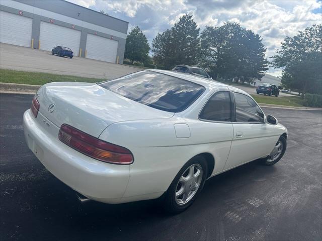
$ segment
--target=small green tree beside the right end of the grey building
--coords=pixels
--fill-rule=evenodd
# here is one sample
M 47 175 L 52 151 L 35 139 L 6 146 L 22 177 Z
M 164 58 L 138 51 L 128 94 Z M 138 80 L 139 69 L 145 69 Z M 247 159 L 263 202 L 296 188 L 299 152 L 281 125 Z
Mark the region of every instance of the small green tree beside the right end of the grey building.
M 124 58 L 129 59 L 132 64 L 133 61 L 144 63 L 149 59 L 149 51 L 150 47 L 145 35 L 142 33 L 140 28 L 136 26 L 127 35 Z

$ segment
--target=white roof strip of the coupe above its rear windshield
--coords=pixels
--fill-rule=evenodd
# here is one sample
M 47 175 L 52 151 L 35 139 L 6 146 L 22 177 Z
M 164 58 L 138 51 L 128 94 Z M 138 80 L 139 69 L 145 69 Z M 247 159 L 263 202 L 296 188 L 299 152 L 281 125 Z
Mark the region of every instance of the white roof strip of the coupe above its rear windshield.
M 206 78 L 198 77 L 196 75 L 188 74 L 188 73 L 182 73 L 182 72 L 175 72 L 175 71 L 170 71 L 170 70 L 160 70 L 160 69 L 149 69 L 149 71 L 157 72 L 157 73 L 162 73 L 162 74 L 167 74 L 173 77 L 177 77 L 180 79 L 188 80 L 191 82 L 194 82 L 196 84 L 200 84 L 204 86 L 205 88 L 218 88 L 218 87 L 228 87 L 229 90 L 235 91 L 235 92 L 240 92 L 249 95 L 247 92 L 244 90 L 238 89 L 236 87 L 233 87 L 231 85 L 223 84 L 215 80 L 209 80 Z

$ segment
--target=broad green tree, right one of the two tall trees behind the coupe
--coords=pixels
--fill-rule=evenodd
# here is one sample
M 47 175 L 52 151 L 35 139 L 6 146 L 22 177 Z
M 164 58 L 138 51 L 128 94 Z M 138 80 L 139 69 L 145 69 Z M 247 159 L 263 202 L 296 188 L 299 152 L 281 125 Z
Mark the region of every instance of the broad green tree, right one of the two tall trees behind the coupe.
M 252 82 L 268 70 L 261 37 L 237 23 L 206 26 L 200 39 L 200 65 L 209 69 L 214 78 L 220 75 Z

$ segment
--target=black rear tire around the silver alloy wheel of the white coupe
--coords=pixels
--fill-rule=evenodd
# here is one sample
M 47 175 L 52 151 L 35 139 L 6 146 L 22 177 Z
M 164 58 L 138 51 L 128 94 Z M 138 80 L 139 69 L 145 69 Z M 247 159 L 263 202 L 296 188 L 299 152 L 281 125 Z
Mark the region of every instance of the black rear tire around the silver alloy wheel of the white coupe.
M 191 175 L 191 167 L 193 167 L 193 170 L 194 170 L 193 175 Z M 199 172 L 199 176 L 196 178 L 195 175 L 197 174 L 197 172 Z M 165 199 L 164 199 L 165 210 L 170 213 L 180 213 L 185 211 L 194 202 L 198 194 L 201 192 L 205 184 L 205 181 L 207 179 L 207 173 L 208 173 L 208 166 L 207 166 L 207 161 L 204 157 L 196 156 L 192 158 L 190 161 L 188 161 L 180 169 L 179 173 L 172 181 L 170 187 L 165 193 Z M 200 177 L 200 175 L 202 176 Z M 188 179 L 187 181 L 184 181 L 182 177 L 184 178 L 188 177 L 190 179 Z M 181 180 L 183 182 L 181 182 Z M 185 184 L 182 184 L 182 183 L 185 183 Z M 199 184 L 196 187 L 197 183 Z M 184 189 L 184 193 L 181 194 L 180 196 L 177 196 L 176 193 L 182 190 L 182 188 Z M 194 188 L 196 188 L 196 190 L 193 190 Z M 186 190 L 190 191 L 191 194 L 189 193 L 186 194 Z M 188 196 L 186 200 L 185 200 L 185 195 L 186 197 Z M 191 196 L 189 197 L 189 195 Z

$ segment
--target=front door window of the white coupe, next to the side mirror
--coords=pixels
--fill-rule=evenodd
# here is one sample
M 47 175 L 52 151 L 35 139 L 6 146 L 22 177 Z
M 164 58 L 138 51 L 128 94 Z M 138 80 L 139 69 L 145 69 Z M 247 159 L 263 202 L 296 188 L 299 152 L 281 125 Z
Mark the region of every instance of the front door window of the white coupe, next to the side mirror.
M 257 103 L 245 94 L 233 93 L 236 122 L 263 122 L 264 114 Z

